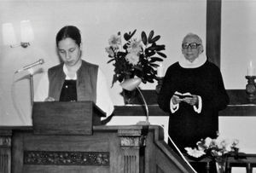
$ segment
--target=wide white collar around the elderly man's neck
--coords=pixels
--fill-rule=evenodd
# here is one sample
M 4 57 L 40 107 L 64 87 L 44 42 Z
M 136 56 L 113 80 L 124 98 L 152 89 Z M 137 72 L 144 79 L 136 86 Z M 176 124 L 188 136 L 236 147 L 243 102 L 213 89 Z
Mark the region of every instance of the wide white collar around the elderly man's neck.
M 178 63 L 183 68 L 197 68 L 202 66 L 207 61 L 207 56 L 201 53 L 193 62 L 188 61 L 184 55 L 181 55 Z

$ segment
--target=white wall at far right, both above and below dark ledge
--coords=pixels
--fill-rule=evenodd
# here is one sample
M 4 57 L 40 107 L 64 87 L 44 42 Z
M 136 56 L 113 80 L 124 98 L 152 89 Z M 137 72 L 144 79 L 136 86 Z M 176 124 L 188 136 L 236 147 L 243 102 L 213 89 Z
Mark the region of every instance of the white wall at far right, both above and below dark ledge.
M 222 3 L 221 71 L 227 89 L 245 89 L 249 61 L 256 66 L 255 16 L 255 0 L 224 0 Z M 256 140 L 253 137 L 256 134 L 255 117 L 219 119 L 220 133 L 240 139 L 241 152 L 256 153 Z

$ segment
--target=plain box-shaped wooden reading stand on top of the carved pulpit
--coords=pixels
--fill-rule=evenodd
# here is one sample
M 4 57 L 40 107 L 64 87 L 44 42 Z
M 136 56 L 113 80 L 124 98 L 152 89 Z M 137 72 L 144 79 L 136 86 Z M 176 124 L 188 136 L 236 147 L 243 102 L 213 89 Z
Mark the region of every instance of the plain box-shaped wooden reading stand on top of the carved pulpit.
M 92 135 L 105 112 L 92 101 L 38 101 L 32 107 L 32 125 L 38 135 Z

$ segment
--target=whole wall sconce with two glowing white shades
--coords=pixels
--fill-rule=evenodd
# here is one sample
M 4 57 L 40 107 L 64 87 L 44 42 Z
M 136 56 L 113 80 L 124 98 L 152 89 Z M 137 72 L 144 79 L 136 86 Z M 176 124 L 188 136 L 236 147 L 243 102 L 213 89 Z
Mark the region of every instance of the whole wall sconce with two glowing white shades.
M 3 44 L 9 45 L 11 48 L 19 47 L 26 48 L 34 39 L 32 25 L 29 20 L 20 21 L 20 43 L 17 43 L 15 37 L 15 29 L 12 23 L 4 23 L 3 27 Z

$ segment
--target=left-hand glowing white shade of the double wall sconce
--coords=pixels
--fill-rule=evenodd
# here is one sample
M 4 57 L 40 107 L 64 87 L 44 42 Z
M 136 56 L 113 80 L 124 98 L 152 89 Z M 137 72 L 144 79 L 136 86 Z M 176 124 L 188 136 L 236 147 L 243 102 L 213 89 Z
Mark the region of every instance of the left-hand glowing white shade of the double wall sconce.
M 15 29 L 12 23 L 3 23 L 2 25 L 3 45 L 14 45 L 17 43 Z

